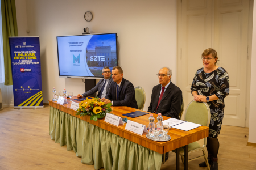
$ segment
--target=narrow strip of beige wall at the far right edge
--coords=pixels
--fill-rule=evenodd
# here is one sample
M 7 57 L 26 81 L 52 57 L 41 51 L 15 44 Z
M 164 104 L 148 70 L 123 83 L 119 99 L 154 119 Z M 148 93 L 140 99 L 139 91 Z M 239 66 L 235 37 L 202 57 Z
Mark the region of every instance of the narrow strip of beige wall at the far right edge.
M 256 3 L 254 3 L 254 9 L 256 9 Z M 251 50 L 251 90 L 250 90 L 250 119 L 249 119 L 249 139 L 248 142 L 256 143 L 256 11 L 253 12 L 253 43 Z

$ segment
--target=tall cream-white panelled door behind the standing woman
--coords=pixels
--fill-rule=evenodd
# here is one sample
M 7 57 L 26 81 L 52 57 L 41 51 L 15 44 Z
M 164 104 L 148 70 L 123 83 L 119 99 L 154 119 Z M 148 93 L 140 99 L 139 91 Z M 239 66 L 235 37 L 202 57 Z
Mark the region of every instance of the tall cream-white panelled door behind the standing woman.
M 203 67 L 201 53 L 214 48 L 217 65 L 229 73 L 230 93 L 225 98 L 224 125 L 245 126 L 247 35 L 249 0 L 182 0 L 181 90 L 185 107 L 196 70 Z

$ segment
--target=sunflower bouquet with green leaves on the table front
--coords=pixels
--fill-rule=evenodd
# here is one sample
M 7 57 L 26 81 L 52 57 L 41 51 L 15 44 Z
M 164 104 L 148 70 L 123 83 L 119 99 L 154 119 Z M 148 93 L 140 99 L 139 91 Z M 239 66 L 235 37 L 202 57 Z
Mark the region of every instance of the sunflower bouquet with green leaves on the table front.
M 90 120 L 97 121 L 98 118 L 103 118 L 106 113 L 111 111 L 111 103 L 105 104 L 99 98 L 88 99 L 79 103 L 79 109 L 77 109 L 76 115 L 85 116 L 90 115 Z

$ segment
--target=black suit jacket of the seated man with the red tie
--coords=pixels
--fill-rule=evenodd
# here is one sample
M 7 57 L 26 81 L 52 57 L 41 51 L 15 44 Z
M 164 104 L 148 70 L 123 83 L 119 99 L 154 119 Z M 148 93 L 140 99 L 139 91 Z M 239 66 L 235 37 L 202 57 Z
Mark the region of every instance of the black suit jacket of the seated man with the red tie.
M 155 113 L 156 107 L 158 105 L 158 99 L 160 96 L 161 88 L 161 84 L 158 84 L 153 88 L 150 106 L 148 107 L 148 112 Z M 181 104 L 182 91 L 180 90 L 179 87 L 175 86 L 171 82 L 163 94 L 162 100 L 160 101 L 156 113 L 162 113 L 163 116 L 179 119 Z

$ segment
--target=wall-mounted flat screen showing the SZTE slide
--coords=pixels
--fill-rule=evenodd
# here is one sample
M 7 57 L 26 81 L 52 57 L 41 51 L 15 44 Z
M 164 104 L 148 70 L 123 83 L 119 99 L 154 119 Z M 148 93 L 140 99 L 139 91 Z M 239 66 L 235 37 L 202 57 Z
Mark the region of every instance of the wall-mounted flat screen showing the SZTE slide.
M 102 79 L 102 69 L 117 66 L 117 33 L 57 36 L 59 76 Z

